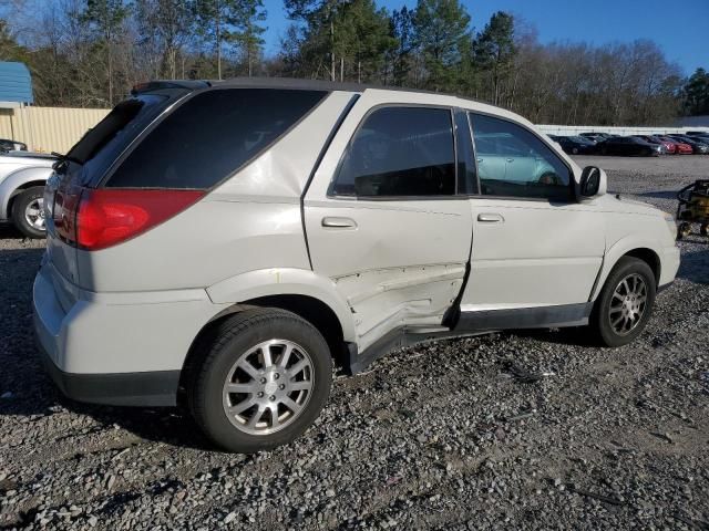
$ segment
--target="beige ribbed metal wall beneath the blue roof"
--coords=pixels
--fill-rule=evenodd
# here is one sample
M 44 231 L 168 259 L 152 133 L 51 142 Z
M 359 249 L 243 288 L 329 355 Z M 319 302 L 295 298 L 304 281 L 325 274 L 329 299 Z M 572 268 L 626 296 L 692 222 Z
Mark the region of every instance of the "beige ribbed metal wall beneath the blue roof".
M 0 138 L 23 142 L 30 150 L 66 153 L 106 114 L 105 108 L 0 108 Z

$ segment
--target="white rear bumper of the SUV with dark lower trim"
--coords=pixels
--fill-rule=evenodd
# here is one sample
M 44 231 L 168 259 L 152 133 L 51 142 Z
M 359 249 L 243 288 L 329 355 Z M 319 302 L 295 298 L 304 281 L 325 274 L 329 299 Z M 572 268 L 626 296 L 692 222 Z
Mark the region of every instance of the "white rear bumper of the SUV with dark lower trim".
M 204 290 L 68 294 L 66 282 L 44 262 L 32 294 L 37 344 L 58 387 L 81 402 L 174 405 L 192 342 L 222 305 Z

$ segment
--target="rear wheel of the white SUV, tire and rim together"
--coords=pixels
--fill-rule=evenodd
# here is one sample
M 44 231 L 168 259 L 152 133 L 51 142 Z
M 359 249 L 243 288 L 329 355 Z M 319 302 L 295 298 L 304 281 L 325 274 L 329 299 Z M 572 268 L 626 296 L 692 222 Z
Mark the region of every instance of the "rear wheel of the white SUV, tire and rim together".
M 325 339 L 284 310 L 247 310 L 226 319 L 197 354 L 203 362 L 188 403 L 206 435 L 228 451 L 290 442 L 330 394 L 332 358 Z

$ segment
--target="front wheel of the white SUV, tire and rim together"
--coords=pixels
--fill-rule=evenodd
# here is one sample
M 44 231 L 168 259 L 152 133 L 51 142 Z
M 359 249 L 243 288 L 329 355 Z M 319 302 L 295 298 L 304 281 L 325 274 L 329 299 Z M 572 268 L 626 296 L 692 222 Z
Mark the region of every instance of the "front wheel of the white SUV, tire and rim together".
M 604 345 L 626 345 L 640 335 L 655 303 L 655 273 L 643 260 L 618 260 L 590 316 L 590 329 Z

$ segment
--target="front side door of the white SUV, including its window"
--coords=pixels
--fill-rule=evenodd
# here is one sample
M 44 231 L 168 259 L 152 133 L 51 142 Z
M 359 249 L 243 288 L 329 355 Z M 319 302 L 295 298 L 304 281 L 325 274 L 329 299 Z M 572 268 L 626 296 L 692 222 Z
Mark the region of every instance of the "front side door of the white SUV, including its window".
M 541 321 L 525 321 L 530 325 L 582 320 L 603 260 L 602 220 L 574 199 L 572 170 L 535 134 L 497 117 L 470 118 L 476 158 L 507 164 L 504 173 L 479 165 L 481 194 L 470 198 L 473 248 L 463 315 L 528 316 L 536 309 Z M 504 324 L 514 327 L 514 319 Z

